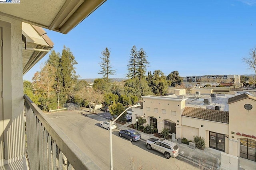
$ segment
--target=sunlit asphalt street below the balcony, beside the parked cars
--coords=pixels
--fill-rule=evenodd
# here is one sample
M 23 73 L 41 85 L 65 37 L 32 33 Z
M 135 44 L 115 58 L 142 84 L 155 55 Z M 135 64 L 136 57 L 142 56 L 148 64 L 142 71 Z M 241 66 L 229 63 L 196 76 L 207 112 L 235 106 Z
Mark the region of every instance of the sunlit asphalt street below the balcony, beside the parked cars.
M 110 169 L 109 131 L 100 122 L 76 111 L 47 114 L 52 121 L 85 152 L 102 170 Z M 112 131 L 114 170 L 198 170 L 182 158 L 166 159 L 163 154 L 148 150 L 145 141 L 130 142 Z

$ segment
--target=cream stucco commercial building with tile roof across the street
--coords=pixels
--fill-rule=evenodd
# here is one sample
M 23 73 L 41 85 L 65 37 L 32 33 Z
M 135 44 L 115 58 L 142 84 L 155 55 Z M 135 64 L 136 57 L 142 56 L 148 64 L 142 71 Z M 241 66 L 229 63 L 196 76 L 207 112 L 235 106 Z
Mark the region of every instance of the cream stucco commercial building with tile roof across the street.
M 143 96 L 143 107 L 132 108 L 132 123 L 143 117 L 158 133 L 168 128 L 176 140 L 201 136 L 206 147 L 256 161 L 256 96 L 174 91 L 170 96 Z

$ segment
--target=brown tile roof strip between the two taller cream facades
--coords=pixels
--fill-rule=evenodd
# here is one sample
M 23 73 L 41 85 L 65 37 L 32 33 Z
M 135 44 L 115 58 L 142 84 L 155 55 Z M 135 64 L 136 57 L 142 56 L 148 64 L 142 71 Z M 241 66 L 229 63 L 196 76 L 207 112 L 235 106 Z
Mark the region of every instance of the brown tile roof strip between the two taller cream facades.
M 229 112 L 221 110 L 202 109 L 197 107 L 185 107 L 182 116 L 228 123 Z

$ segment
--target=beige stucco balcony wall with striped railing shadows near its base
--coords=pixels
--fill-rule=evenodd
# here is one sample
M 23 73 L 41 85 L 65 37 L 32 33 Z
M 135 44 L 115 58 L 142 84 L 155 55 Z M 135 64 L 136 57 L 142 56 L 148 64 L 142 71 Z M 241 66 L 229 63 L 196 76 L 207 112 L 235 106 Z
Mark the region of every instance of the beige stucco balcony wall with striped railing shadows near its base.
M 25 154 L 21 21 L 0 16 L 3 27 L 3 115 L 5 162 Z M 4 22 L 3 22 L 4 21 Z M 2 132 L 1 132 L 2 133 Z

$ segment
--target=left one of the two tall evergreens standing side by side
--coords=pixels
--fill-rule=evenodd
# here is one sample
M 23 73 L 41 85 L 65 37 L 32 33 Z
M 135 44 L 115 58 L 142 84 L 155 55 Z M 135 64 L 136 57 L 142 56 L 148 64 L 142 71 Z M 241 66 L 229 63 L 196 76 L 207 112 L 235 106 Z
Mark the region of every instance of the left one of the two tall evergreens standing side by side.
M 130 51 L 130 60 L 128 61 L 128 73 L 126 76 L 128 78 L 135 78 L 138 72 L 138 51 L 135 45 L 132 47 Z

